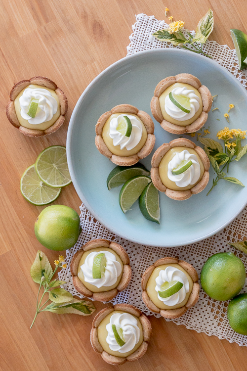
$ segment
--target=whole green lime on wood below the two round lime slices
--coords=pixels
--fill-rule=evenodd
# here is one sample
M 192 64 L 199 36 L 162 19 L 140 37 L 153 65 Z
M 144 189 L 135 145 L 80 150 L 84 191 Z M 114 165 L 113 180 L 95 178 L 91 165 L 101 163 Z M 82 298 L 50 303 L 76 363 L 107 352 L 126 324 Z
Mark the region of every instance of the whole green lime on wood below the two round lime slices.
M 67 250 L 75 245 L 82 231 L 80 217 L 71 207 L 52 205 L 36 219 L 35 235 L 50 250 Z

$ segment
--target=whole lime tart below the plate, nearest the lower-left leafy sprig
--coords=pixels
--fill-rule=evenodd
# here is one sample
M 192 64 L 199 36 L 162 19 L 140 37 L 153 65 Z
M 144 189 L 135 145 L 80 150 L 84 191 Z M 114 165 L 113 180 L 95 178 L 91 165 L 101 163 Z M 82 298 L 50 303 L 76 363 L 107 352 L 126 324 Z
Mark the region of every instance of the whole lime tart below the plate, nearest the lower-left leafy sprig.
M 76 290 L 98 301 L 112 300 L 131 279 L 126 251 L 106 239 L 85 243 L 73 256 L 70 270 Z

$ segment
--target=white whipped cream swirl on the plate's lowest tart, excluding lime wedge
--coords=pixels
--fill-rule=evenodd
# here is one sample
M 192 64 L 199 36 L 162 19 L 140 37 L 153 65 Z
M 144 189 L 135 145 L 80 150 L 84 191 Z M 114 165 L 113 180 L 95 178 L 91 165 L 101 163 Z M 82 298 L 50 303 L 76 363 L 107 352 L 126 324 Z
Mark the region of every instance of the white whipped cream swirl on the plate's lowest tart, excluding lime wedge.
M 182 174 L 173 175 L 172 170 L 177 168 L 182 161 L 192 161 L 189 169 L 185 170 Z M 176 152 L 175 156 L 168 163 L 167 177 L 170 181 L 175 182 L 178 187 L 187 187 L 187 185 L 195 184 L 201 175 L 201 167 L 196 155 L 187 151 Z

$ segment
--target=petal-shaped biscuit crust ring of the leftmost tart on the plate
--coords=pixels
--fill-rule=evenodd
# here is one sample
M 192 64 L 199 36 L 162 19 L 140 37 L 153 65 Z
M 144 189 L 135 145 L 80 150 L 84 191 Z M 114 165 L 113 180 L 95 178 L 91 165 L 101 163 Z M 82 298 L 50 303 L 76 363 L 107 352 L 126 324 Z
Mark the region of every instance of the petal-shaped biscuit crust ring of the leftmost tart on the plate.
M 143 147 L 137 152 L 135 155 L 132 156 L 117 156 L 113 154 L 107 147 L 102 138 L 102 131 L 106 121 L 109 117 L 114 113 L 129 113 L 134 114 L 139 117 L 142 121 L 143 125 L 147 130 L 147 140 Z M 155 145 L 155 135 L 154 135 L 154 123 L 151 117 L 144 111 L 139 111 L 138 108 L 132 106 L 131 104 L 118 104 L 117 106 L 113 107 L 110 111 L 103 113 L 97 121 L 95 126 L 95 145 L 98 151 L 108 157 L 114 164 L 120 166 L 131 166 L 136 164 L 142 158 L 147 157 Z

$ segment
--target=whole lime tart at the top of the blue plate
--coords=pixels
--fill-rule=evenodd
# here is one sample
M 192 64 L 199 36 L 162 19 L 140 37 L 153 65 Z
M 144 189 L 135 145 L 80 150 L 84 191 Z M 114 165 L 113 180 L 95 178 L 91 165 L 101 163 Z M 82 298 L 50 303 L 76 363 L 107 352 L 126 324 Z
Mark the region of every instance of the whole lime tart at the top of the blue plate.
M 166 77 L 155 88 L 151 111 L 162 128 L 172 134 L 194 133 L 207 120 L 212 96 L 201 81 L 189 73 Z

